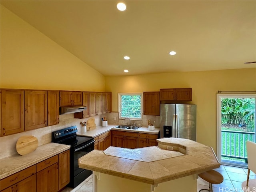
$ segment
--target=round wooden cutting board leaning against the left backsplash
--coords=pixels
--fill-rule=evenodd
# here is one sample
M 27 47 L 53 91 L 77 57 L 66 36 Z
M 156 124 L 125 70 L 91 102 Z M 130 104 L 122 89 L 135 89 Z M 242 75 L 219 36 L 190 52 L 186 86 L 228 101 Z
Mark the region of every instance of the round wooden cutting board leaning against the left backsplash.
M 38 139 L 32 135 L 25 135 L 18 139 L 16 150 L 20 155 L 33 152 L 38 147 Z

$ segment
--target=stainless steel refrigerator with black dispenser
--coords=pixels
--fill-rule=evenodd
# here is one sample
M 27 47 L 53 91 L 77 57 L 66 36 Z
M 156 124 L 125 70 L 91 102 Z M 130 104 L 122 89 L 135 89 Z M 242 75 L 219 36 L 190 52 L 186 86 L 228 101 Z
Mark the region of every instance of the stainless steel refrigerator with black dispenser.
M 196 141 L 195 104 L 160 104 L 160 138 L 166 137 Z

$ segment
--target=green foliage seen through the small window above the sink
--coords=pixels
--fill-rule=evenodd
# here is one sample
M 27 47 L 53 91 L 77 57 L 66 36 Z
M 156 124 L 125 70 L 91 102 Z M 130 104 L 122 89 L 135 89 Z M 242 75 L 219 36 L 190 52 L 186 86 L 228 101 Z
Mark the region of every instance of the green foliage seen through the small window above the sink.
M 141 118 L 141 95 L 121 96 L 121 118 Z

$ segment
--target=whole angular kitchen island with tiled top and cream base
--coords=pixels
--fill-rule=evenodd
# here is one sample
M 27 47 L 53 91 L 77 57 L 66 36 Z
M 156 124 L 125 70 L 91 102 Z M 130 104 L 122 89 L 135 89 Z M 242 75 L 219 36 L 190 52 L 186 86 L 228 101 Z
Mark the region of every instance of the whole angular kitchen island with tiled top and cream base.
M 94 192 L 195 192 L 197 174 L 218 168 L 211 147 L 182 138 L 158 146 L 93 150 L 78 160 L 94 173 Z

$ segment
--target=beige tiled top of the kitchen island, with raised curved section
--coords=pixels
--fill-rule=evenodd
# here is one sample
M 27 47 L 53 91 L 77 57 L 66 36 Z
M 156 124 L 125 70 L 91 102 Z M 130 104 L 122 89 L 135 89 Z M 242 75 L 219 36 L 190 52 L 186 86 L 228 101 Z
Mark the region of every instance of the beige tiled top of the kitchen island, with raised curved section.
M 93 150 L 78 164 L 80 168 L 153 185 L 220 167 L 211 147 L 182 138 L 157 142 L 158 146 L 145 148 Z

